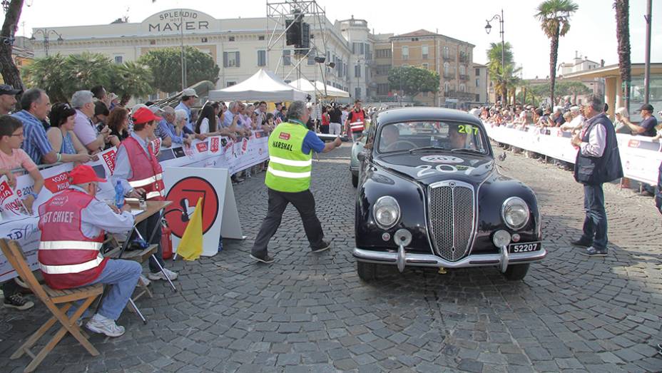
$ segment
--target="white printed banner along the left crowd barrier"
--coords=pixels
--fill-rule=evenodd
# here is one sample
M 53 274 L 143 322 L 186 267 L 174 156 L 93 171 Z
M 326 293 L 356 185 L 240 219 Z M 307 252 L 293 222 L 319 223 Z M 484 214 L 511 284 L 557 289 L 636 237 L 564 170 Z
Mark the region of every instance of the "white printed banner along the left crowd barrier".
M 178 145 L 161 148 L 158 160 L 164 170 L 173 167 L 227 168 L 230 174 L 233 174 L 268 160 L 267 140 L 262 131 L 255 131 L 250 138 L 238 139 L 236 142 L 220 136 L 204 141 L 194 140 L 190 147 Z M 158 148 L 160 143 L 152 145 Z M 97 175 L 109 179 L 106 183 L 99 184 L 99 200 L 115 198 L 115 188 L 110 180 L 115 170 L 115 155 L 116 148 L 111 148 L 99 153 L 98 160 L 87 163 L 94 168 Z M 41 237 L 37 227 L 39 205 L 49 200 L 54 193 L 68 188 L 68 171 L 72 168 L 72 163 L 64 163 L 41 170 L 44 188 L 41 188 L 39 198 L 34 203 L 32 216 L 27 215 L 21 203 L 23 196 L 34 188 L 32 178 L 29 175 L 17 177 L 14 189 L 9 188 L 5 176 L 0 178 L 0 237 L 17 240 L 33 270 L 37 267 L 36 253 Z M 0 252 L 0 282 L 12 277 L 16 277 L 16 272 Z

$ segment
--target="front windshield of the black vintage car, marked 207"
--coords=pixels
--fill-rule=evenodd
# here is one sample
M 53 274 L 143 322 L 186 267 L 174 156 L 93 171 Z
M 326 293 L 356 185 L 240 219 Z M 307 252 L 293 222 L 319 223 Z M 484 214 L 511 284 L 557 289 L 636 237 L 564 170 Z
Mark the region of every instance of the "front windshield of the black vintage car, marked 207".
M 377 135 L 378 151 L 442 149 L 487 154 L 482 129 L 470 123 L 416 121 L 389 123 Z

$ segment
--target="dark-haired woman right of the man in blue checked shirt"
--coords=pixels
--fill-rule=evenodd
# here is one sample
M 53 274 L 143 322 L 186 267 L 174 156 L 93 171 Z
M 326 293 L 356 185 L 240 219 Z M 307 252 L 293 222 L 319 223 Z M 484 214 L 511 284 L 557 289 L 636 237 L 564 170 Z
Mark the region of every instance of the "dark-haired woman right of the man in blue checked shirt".
M 76 110 L 68 103 L 56 103 L 49 114 L 51 128 L 46 131 L 46 136 L 51 146 L 59 149 L 62 162 L 86 163 L 92 160 L 93 156 L 89 155 L 88 150 L 73 133 L 74 118 Z

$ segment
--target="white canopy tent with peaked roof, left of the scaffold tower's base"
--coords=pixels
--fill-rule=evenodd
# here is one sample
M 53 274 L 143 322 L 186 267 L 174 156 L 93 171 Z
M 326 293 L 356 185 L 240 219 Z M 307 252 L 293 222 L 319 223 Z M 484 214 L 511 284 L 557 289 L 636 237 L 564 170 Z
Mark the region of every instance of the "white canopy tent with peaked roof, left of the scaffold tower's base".
M 305 91 L 288 86 L 281 78 L 264 68 L 234 86 L 209 91 L 211 101 L 305 101 L 306 96 Z

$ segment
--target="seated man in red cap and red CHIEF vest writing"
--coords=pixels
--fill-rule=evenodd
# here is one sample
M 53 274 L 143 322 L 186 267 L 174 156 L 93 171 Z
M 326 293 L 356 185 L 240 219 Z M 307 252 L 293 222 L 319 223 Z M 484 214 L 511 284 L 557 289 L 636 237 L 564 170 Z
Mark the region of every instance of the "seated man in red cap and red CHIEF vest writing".
M 99 178 L 89 165 L 69 173 L 71 186 L 39 207 L 39 268 L 46 285 L 71 289 L 92 284 L 111 285 L 98 312 L 86 327 L 93 332 L 119 337 L 124 327 L 116 325 L 136 288 L 142 267 L 131 260 L 108 260 L 99 250 L 103 236 L 126 233 L 133 227 L 131 208 L 111 208 L 95 198 Z M 73 312 L 69 312 L 73 313 Z

